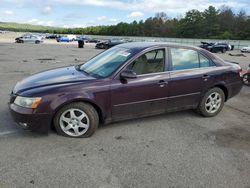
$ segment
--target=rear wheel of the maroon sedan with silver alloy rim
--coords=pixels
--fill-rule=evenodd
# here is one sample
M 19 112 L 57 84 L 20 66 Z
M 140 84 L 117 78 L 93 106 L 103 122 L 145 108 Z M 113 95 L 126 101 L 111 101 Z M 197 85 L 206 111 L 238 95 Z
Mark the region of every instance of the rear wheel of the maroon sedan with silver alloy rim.
M 204 117 L 216 116 L 223 108 L 224 101 L 224 92 L 220 88 L 215 87 L 205 93 L 197 111 Z

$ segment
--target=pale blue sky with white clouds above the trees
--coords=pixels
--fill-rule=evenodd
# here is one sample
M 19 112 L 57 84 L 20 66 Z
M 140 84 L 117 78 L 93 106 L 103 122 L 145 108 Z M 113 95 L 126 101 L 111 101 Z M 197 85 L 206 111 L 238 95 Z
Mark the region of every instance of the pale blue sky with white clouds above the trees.
M 0 22 L 56 27 L 114 25 L 145 20 L 157 12 L 180 18 L 185 12 L 223 5 L 250 15 L 250 0 L 0 0 Z

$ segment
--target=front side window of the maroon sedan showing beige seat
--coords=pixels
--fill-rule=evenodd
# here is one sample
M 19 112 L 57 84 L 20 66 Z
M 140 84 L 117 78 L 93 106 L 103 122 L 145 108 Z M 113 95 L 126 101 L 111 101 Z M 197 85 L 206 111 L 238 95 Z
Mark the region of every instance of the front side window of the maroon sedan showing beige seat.
M 164 54 L 164 49 L 152 50 L 138 57 L 126 69 L 134 71 L 137 75 L 163 72 Z

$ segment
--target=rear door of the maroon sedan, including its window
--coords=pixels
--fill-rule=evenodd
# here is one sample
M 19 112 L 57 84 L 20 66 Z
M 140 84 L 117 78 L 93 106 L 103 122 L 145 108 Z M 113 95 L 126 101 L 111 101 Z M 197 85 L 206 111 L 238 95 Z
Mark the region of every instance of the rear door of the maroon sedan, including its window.
M 212 83 L 213 62 L 196 50 L 170 48 L 171 61 L 168 108 L 198 105 L 202 91 Z

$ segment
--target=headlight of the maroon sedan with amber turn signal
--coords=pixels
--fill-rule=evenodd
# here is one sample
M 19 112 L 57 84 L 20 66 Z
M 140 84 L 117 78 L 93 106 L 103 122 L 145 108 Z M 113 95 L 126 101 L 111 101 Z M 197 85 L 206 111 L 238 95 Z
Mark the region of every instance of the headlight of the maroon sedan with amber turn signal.
M 33 108 L 35 109 L 37 105 L 41 102 L 41 97 L 21 97 L 17 96 L 14 103 L 18 106 L 22 106 L 25 108 Z

